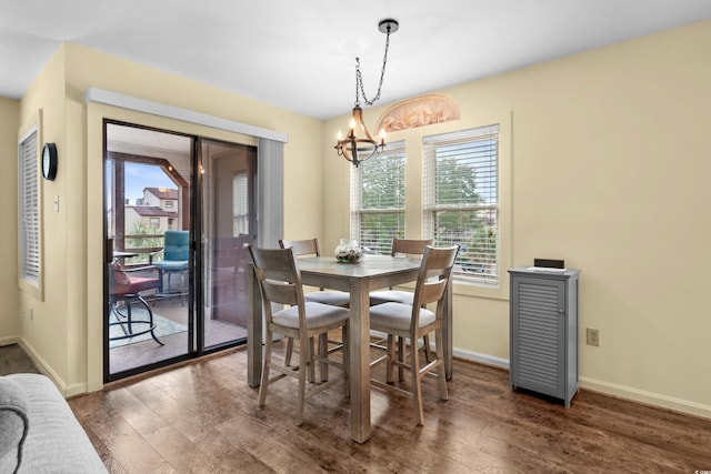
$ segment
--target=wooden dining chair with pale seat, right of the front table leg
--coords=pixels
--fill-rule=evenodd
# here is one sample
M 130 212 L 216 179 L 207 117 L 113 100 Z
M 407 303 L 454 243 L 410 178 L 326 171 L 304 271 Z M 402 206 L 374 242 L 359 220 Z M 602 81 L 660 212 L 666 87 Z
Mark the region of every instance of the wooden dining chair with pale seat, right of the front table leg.
M 448 248 L 433 248 L 428 245 L 422 256 L 422 263 L 418 272 L 412 304 L 389 302 L 370 307 L 370 329 L 388 334 L 388 351 L 384 355 L 371 362 L 371 366 L 382 362 L 385 366 L 385 382 L 371 379 L 371 384 L 395 393 L 412 396 L 415 418 L 419 425 L 423 424 L 422 411 L 422 377 L 437 371 L 440 397 L 448 399 L 447 375 L 444 371 L 444 341 L 442 335 L 442 319 L 444 314 L 444 299 L 447 285 L 450 284 L 452 265 L 459 252 L 459 245 Z M 429 303 L 435 303 L 434 312 L 423 307 Z M 424 334 L 434 331 L 434 359 L 420 366 L 419 351 L 410 351 L 410 362 L 407 359 L 395 359 L 394 336 L 409 337 L 418 341 Z M 402 367 L 411 372 L 411 386 L 395 386 L 392 369 Z

